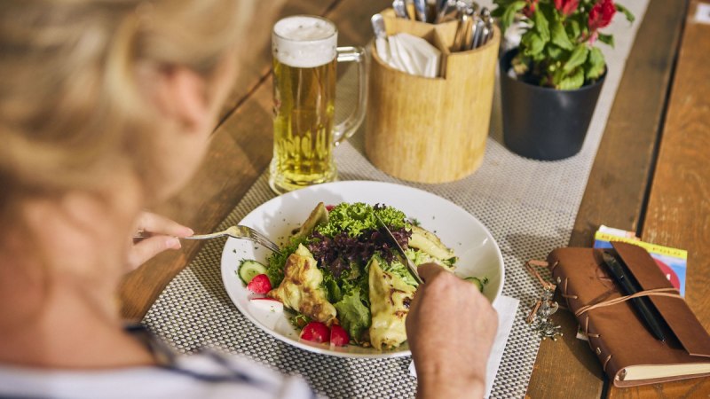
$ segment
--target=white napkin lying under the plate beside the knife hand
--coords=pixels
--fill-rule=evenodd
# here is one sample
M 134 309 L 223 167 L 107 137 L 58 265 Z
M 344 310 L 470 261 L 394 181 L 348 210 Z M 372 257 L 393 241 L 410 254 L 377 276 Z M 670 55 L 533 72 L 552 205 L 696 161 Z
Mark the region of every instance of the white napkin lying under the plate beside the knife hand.
M 498 372 L 498 366 L 501 364 L 503 357 L 503 349 L 508 341 L 510 330 L 513 328 L 513 321 L 516 317 L 517 305 L 520 301 L 509 296 L 500 296 L 498 300 L 493 302 L 493 309 L 498 311 L 498 332 L 493 340 L 493 348 L 491 348 L 491 356 L 488 357 L 488 364 L 485 366 L 485 397 L 491 395 L 493 389 L 493 380 Z M 409 372 L 416 377 L 414 370 L 414 362 L 409 364 Z

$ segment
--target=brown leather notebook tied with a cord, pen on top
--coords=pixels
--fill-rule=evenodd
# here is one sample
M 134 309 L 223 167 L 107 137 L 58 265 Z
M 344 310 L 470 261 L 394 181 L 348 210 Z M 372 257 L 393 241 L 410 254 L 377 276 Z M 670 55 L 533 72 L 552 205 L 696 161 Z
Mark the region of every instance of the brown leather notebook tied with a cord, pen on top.
M 557 248 L 548 263 L 568 308 L 580 313 L 577 319 L 588 333 L 589 346 L 613 384 L 632 387 L 710 375 L 710 336 L 651 255 L 640 246 L 612 246 L 643 291 L 662 292 L 647 298 L 662 318 L 665 341 L 651 334 L 631 301 L 604 303 L 580 313 L 586 306 L 623 296 L 601 249 Z

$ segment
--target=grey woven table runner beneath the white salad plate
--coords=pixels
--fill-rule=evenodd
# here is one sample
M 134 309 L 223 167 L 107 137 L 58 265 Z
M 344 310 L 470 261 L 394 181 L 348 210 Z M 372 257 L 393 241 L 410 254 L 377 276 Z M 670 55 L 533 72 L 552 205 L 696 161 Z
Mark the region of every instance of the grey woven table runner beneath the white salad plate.
M 605 29 L 615 35 L 616 47 L 604 49 L 609 72 L 582 151 L 567 160 L 527 160 L 500 144 L 500 107 L 493 107 L 492 133 L 485 160 L 472 176 L 450 184 L 411 184 L 385 175 L 367 161 L 362 131 L 340 145 L 335 159 L 341 180 L 377 180 L 406 184 L 433 192 L 466 209 L 493 233 L 505 262 L 503 294 L 521 301 L 505 348 L 491 397 L 519 398 L 533 371 L 539 339 L 526 313 L 540 294 L 539 286 L 523 268 L 529 259 L 544 259 L 572 234 L 589 170 L 604 132 L 635 32 L 648 0 L 627 2 L 636 21 L 622 18 Z M 344 81 L 344 82 L 343 82 Z M 353 98 L 347 74 L 338 86 L 338 108 Z M 273 198 L 267 176 L 261 176 L 241 203 L 219 226 L 238 223 L 252 209 Z M 409 375 L 409 357 L 385 360 L 344 359 L 294 348 L 265 334 L 243 317 L 225 293 L 219 272 L 224 240 L 206 243 L 185 270 L 170 282 L 143 322 L 183 353 L 217 348 L 264 364 L 279 372 L 304 376 L 328 397 L 401 398 L 414 396 L 416 379 Z

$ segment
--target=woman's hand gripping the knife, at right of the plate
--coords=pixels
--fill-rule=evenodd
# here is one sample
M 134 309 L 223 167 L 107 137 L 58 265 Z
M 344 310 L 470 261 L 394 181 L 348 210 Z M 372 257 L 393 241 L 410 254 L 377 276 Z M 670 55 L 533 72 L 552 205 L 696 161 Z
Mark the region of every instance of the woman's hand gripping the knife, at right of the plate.
M 423 264 L 419 275 L 425 283 L 406 317 L 417 397 L 483 397 L 498 314 L 476 286 L 441 266 Z

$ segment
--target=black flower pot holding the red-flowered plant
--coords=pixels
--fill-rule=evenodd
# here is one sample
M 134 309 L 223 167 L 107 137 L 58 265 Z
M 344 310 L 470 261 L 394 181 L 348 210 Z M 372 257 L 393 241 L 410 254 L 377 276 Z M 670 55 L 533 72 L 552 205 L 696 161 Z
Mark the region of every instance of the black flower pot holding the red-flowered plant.
M 535 160 L 562 160 L 579 153 L 606 73 L 575 90 L 556 90 L 508 74 L 517 49 L 500 60 L 503 140 L 514 153 Z

